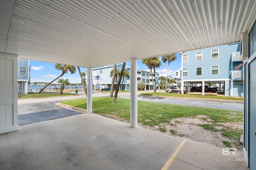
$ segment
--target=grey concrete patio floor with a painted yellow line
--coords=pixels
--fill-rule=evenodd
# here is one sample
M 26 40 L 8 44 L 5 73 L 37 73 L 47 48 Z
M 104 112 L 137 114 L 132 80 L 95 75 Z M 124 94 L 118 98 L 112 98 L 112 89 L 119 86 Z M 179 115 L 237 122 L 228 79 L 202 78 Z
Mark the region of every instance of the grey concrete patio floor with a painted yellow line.
M 0 169 L 248 170 L 243 156 L 96 114 L 80 114 L 0 134 Z

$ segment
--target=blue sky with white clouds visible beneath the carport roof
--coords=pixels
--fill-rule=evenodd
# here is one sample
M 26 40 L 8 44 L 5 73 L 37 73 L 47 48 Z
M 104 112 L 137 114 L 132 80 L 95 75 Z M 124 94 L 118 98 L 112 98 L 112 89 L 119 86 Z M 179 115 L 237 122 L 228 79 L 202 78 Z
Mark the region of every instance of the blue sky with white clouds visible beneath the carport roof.
M 177 59 L 170 63 L 170 69 L 168 75 L 173 75 L 176 70 L 181 68 L 181 55 L 177 53 Z M 161 58 L 161 57 L 160 57 Z M 34 61 L 30 60 L 30 82 L 46 82 L 49 83 L 56 77 L 58 77 L 62 72 L 60 70 L 56 70 L 54 65 L 56 63 L 47 63 L 42 61 Z M 127 62 L 128 67 L 130 67 L 130 62 Z M 138 60 L 138 69 L 148 70 L 148 67 L 141 63 L 141 60 Z M 162 63 L 160 68 L 156 69 L 156 72 L 160 75 L 166 76 L 168 69 L 168 63 Z M 80 67 L 81 72 L 84 72 L 86 68 Z M 64 74 L 61 78 L 68 79 L 70 83 L 78 83 L 80 84 L 81 79 L 78 70 L 74 74 Z

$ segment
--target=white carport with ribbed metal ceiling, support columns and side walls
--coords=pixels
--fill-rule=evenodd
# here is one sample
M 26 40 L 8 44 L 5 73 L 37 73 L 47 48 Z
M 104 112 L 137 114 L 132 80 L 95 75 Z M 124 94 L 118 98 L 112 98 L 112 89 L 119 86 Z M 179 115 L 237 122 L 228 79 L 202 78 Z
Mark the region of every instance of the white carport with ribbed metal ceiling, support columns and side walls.
M 88 113 L 92 113 L 92 67 L 130 61 L 130 124 L 136 127 L 137 60 L 242 42 L 241 61 L 247 61 L 255 8 L 255 0 L 1 0 L 0 133 L 18 130 L 17 57 L 87 67 Z M 248 59 L 247 72 L 255 68 L 249 66 L 254 57 Z M 246 93 L 245 116 L 253 100 L 252 92 Z M 256 114 L 252 110 L 250 114 Z M 256 121 L 256 116 L 246 117 L 246 126 L 250 119 Z M 249 156 L 256 159 L 255 146 L 247 152 L 256 130 L 250 128 L 254 127 L 246 128 L 244 146 L 247 163 Z M 256 163 L 250 166 L 256 168 Z

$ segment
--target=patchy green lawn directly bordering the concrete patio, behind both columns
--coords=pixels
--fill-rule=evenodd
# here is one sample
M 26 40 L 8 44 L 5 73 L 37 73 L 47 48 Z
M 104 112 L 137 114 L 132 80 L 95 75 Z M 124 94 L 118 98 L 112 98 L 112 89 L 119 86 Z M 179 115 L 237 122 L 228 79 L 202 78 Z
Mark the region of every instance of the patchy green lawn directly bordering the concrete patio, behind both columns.
M 112 101 L 113 99 L 108 97 L 94 97 L 92 99 L 92 111 L 94 113 L 115 115 L 130 121 L 130 100 L 118 98 L 116 100 L 116 104 L 112 104 Z M 68 100 L 62 101 L 61 103 L 82 109 L 86 109 L 87 107 L 86 99 Z M 172 119 L 180 117 L 196 117 L 198 115 L 204 115 L 209 118 L 208 124 L 198 126 L 202 126 L 207 130 L 221 131 L 223 136 L 239 140 L 242 130 L 228 127 L 218 129 L 216 127 L 223 126 L 220 123 L 242 123 L 242 111 L 138 101 L 138 123 L 142 123 L 143 125 L 148 125 L 150 127 L 159 126 L 163 123 L 168 125 Z M 205 118 L 202 118 L 202 120 L 204 119 Z M 161 128 L 163 128 L 162 125 Z

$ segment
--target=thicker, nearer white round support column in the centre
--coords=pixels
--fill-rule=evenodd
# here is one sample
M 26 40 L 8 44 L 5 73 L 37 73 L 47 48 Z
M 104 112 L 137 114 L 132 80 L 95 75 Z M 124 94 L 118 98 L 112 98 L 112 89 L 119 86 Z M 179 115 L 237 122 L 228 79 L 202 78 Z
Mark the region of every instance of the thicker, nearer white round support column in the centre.
M 138 124 L 138 90 L 137 90 L 137 58 L 131 58 L 130 68 L 130 126 L 137 127 Z

